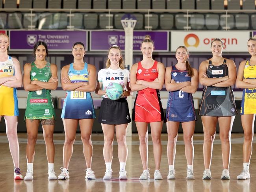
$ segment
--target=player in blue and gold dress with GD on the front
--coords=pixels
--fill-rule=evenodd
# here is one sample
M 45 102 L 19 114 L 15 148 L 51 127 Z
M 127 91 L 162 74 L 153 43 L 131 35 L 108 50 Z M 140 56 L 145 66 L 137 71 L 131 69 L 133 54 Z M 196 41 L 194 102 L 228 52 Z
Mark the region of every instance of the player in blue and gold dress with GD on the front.
M 63 146 L 63 168 L 58 179 L 69 179 L 69 162 L 72 156 L 73 144 L 76 138 L 76 128 L 80 126 L 83 142 L 83 154 L 86 161 L 85 179 L 95 179 L 91 170 L 93 145 L 91 131 L 96 118 L 91 93 L 96 88 L 96 68 L 83 61 L 85 47 L 82 42 L 73 45 L 72 55 L 74 63 L 66 65 L 61 70 L 61 85 L 67 90 L 62 109 L 65 130 L 65 143 Z

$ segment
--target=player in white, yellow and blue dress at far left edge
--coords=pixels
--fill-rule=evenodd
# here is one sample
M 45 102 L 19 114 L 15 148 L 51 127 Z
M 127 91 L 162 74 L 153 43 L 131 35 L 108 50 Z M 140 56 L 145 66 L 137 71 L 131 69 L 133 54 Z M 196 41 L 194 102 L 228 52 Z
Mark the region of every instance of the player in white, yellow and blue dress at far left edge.
M 0 120 L 4 116 L 6 135 L 14 164 L 14 179 L 22 180 L 19 169 L 19 142 L 17 136 L 18 99 L 16 87 L 22 85 L 20 63 L 7 54 L 9 37 L 0 33 Z

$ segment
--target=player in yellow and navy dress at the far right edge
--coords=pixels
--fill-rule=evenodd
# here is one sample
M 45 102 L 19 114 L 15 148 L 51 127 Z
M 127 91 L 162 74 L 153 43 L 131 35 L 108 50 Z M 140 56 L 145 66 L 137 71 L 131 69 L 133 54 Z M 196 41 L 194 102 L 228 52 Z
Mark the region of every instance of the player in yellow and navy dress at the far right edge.
M 239 65 L 236 86 L 243 88 L 241 121 L 245 140 L 243 142 L 243 171 L 237 179 L 250 179 L 249 164 L 252 155 L 253 127 L 256 114 L 256 36 L 247 42 L 251 58 Z

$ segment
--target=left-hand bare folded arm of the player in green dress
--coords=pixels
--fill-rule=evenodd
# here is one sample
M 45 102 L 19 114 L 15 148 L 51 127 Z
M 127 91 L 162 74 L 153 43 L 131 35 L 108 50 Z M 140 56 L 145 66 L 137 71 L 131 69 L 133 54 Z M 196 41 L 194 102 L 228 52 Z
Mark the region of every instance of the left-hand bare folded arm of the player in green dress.
M 43 87 L 40 87 L 39 85 L 31 84 L 30 72 L 31 72 L 31 63 L 26 63 L 24 65 L 24 78 L 23 78 L 24 89 L 26 91 L 35 91 L 35 90 L 43 89 Z

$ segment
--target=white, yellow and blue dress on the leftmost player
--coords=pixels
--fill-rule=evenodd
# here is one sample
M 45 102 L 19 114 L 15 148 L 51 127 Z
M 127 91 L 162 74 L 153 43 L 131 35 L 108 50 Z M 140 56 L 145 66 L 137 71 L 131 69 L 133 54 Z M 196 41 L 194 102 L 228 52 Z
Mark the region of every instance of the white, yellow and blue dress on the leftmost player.
M 14 76 L 14 64 L 10 56 L 7 61 L 0 62 L 0 78 Z M 16 88 L 0 85 L 0 116 L 19 116 Z

